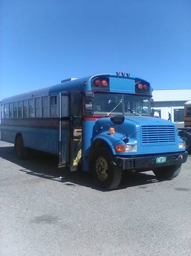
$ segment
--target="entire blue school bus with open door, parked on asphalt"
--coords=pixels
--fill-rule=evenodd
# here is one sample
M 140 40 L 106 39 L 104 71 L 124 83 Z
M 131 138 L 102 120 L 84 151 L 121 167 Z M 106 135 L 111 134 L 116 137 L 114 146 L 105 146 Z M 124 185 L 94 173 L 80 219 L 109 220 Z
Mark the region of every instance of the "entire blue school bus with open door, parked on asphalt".
M 101 73 L 5 98 L 1 139 L 19 159 L 31 149 L 59 156 L 60 167 L 91 172 L 96 185 L 117 188 L 122 171 L 176 177 L 186 162 L 174 123 L 151 117 L 150 83 L 129 73 Z

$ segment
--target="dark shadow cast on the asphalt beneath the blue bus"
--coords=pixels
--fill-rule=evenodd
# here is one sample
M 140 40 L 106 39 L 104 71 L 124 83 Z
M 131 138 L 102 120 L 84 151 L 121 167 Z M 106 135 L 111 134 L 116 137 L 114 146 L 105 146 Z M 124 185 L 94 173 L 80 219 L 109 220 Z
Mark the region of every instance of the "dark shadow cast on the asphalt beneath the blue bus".
M 0 147 L 0 157 L 12 163 L 18 164 L 21 168 L 19 171 L 25 172 L 28 175 L 41 177 L 63 183 L 67 186 L 84 186 L 99 191 L 105 190 L 95 187 L 94 181 L 90 174 L 86 172 L 70 172 L 68 168 L 58 168 L 57 156 L 46 154 L 40 151 L 33 151 L 30 159 L 19 160 L 15 156 L 14 147 Z M 122 176 L 122 181 L 116 189 L 124 189 L 140 185 L 152 184 L 159 182 L 154 175 L 147 173 L 125 173 Z

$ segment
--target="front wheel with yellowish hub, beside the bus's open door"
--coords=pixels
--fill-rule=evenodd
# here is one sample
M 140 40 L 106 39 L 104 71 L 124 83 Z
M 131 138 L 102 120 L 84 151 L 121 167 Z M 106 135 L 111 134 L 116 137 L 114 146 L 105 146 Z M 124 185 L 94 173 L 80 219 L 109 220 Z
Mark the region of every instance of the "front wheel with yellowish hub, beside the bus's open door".
M 117 188 L 121 181 L 122 170 L 114 166 L 112 155 L 104 147 L 97 148 L 91 162 L 91 172 L 98 187 Z

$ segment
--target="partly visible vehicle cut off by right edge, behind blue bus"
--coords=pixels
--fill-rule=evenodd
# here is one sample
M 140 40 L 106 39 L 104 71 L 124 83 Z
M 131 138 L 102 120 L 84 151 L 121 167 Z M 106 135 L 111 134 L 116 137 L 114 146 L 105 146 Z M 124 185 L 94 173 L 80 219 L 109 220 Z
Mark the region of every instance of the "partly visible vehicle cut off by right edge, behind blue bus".
M 191 153 L 191 101 L 184 104 L 184 128 L 179 128 L 179 135 L 185 140 L 186 151 Z

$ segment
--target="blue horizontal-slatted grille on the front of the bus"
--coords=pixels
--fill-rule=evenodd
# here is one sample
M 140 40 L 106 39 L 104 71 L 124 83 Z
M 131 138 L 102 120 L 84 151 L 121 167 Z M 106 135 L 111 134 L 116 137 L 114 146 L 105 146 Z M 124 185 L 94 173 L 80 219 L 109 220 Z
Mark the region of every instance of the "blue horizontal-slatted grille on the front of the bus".
M 175 142 L 174 126 L 142 126 L 142 144 Z

